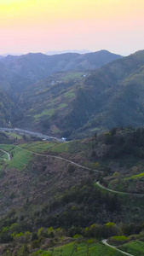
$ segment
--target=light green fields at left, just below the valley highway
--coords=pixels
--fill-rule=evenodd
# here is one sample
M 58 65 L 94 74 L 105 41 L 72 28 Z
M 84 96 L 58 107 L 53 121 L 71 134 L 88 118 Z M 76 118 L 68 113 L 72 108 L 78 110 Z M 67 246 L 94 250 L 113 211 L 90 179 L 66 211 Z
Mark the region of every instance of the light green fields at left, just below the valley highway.
M 32 160 L 31 151 L 44 154 L 46 151 L 50 150 L 57 154 L 63 152 L 76 154 L 82 152 L 82 150 L 83 152 L 84 150 L 87 150 L 88 145 L 80 143 L 79 141 L 68 143 L 38 141 L 34 143 L 20 144 L 20 147 L 13 144 L 0 144 L 0 149 L 7 151 L 11 156 L 11 160 L 7 161 L 8 166 L 20 170 Z M 8 160 L 8 154 L 3 154 L 3 152 L 1 152 L 0 160 L 3 159 Z

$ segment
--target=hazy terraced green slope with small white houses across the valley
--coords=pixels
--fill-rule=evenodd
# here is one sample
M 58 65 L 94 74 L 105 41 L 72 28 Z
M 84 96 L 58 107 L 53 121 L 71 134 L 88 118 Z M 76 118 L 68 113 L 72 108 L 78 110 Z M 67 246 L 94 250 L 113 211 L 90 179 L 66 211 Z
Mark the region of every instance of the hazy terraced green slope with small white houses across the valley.
M 71 114 L 74 102 L 78 102 L 80 84 L 89 74 L 90 71 L 56 73 L 49 79 L 28 87 L 20 95 L 20 112 L 14 115 L 12 123 L 23 127 L 27 127 L 28 124 L 30 130 L 35 130 L 37 127 L 37 130 L 55 134 L 56 137 L 62 137 L 62 131 L 71 133 L 77 121 L 72 125 L 66 123 L 64 119 Z M 78 119 L 77 114 L 76 118 Z

